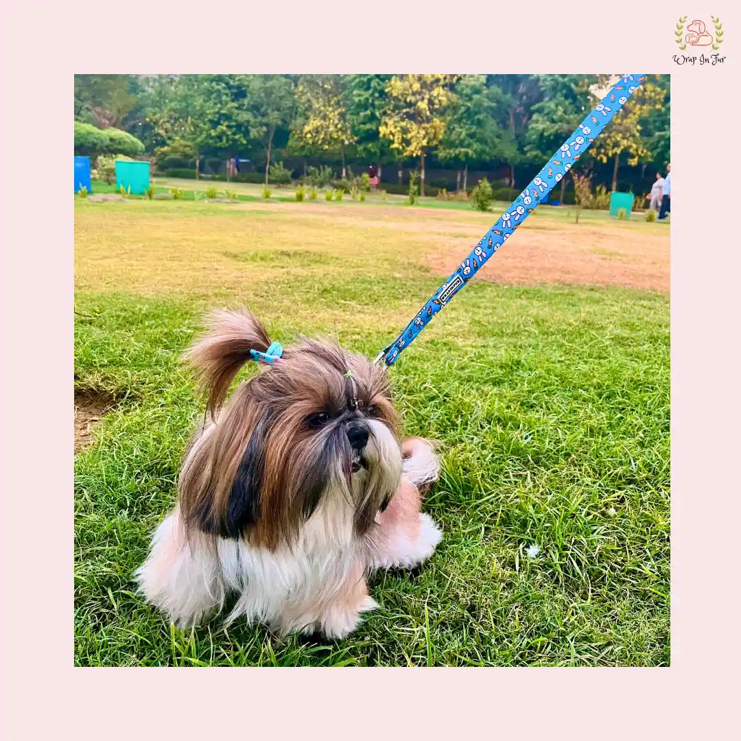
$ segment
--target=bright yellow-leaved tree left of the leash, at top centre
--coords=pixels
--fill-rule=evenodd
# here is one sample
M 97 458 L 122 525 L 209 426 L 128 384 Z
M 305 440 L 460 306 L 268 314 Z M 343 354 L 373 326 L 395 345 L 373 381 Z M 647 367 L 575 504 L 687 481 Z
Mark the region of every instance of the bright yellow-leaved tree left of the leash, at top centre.
M 451 85 L 457 75 L 402 75 L 386 88 L 388 104 L 379 133 L 391 149 L 419 157 L 419 195 L 425 195 L 425 153 L 445 134 L 445 116 L 456 102 Z

